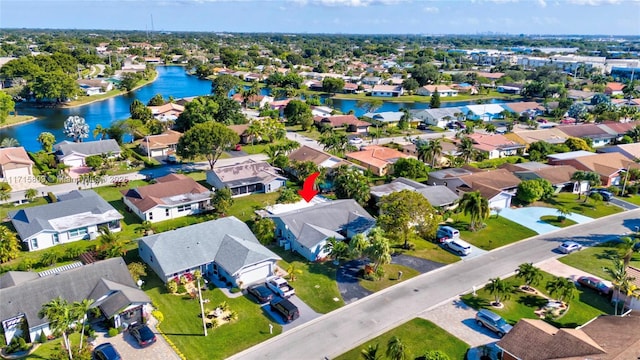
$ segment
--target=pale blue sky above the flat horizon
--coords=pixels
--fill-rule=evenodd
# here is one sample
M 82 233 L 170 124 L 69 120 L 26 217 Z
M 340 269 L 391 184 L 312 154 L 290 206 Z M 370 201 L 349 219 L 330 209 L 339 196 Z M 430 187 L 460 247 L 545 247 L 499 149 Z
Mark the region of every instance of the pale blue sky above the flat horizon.
M 1 28 L 640 35 L 640 0 L 1 0 Z

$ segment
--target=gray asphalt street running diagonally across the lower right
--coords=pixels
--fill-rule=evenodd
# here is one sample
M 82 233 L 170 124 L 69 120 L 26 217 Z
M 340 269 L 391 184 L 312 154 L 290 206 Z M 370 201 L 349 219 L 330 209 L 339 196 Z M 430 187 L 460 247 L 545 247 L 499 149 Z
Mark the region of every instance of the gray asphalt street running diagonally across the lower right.
M 483 286 L 490 278 L 510 275 L 524 262 L 539 263 L 560 256 L 553 249 L 567 238 L 588 246 L 632 232 L 636 226 L 640 226 L 640 210 L 532 237 L 382 290 L 230 359 L 332 358 L 417 317 L 425 310 L 471 291 L 473 286 Z

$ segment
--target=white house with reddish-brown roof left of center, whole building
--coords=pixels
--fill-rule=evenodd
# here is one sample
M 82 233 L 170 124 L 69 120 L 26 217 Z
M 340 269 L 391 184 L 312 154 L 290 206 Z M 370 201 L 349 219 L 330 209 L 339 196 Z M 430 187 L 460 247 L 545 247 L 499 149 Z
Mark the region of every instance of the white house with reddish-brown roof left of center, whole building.
M 211 191 L 182 174 L 169 174 L 157 178 L 155 184 L 120 192 L 127 209 L 143 221 L 175 219 L 211 208 Z

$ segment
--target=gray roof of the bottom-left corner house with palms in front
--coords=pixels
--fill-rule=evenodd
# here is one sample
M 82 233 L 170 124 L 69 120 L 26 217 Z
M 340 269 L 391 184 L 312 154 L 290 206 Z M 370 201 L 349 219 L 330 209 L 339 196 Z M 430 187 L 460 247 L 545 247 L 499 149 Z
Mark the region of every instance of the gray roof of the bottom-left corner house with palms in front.
M 135 299 L 140 303 L 151 302 L 144 292 L 136 288 L 127 265 L 118 257 L 0 289 L 0 320 L 24 313 L 29 327 L 46 324 L 48 320 L 38 316 L 43 304 L 58 296 L 68 302 L 97 300 L 107 295 L 94 290 L 102 279 L 126 288 L 130 294 L 135 293 Z

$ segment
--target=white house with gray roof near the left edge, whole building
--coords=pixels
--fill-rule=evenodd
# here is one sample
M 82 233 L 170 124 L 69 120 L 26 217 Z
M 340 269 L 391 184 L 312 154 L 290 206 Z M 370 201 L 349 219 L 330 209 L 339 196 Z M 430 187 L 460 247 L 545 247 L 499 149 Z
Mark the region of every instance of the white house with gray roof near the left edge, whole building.
M 9 212 L 13 227 L 29 251 L 95 239 L 101 227 L 121 230 L 124 217 L 93 190 L 74 190 L 58 201 Z

